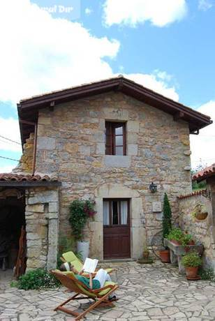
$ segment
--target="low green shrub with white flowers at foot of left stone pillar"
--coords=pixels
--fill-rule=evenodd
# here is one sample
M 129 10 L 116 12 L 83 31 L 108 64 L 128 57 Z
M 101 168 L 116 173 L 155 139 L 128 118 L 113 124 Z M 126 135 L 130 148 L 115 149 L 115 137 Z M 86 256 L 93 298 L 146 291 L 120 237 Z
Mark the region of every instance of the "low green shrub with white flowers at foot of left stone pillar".
M 28 271 L 23 276 L 20 276 L 17 281 L 18 289 L 22 290 L 40 290 L 47 288 L 59 288 L 60 283 L 52 274 L 45 269 L 35 269 Z

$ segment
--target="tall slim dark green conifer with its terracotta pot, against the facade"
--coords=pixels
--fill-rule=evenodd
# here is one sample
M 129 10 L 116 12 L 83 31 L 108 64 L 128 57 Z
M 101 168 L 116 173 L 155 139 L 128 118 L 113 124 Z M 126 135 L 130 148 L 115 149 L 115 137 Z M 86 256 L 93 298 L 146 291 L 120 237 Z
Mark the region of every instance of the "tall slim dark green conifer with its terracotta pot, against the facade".
M 170 233 L 172 230 L 172 211 L 170 207 L 170 202 L 168 200 L 168 195 L 165 193 L 163 198 L 163 239 Z M 165 247 L 165 250 L 160 251 L 161 262 L 169 263 L 170 262 L 170 250 Z

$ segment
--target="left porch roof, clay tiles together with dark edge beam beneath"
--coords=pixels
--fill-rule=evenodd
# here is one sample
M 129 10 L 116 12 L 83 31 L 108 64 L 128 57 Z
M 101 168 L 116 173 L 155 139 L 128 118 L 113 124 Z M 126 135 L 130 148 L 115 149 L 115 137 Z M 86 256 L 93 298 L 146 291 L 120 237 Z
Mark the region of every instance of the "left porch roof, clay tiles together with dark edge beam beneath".
M 15 174 L 1 173 L 0 187 L 39 187 L 39 186 L 61 186 L 61 182 L 57 177 L 49 175 L 31 175 L 31 174 Z

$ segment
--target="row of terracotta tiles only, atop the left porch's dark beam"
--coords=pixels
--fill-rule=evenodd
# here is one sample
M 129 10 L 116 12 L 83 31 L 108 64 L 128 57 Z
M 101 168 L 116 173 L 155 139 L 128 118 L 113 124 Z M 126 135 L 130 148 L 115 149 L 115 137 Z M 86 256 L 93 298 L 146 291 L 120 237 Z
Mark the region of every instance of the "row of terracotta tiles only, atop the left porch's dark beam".
M 48 175 L 36 174 L 13 174 L 13 173 L 1 173 L 0 181 L 58 181 L 57 177 L 50 177 Z

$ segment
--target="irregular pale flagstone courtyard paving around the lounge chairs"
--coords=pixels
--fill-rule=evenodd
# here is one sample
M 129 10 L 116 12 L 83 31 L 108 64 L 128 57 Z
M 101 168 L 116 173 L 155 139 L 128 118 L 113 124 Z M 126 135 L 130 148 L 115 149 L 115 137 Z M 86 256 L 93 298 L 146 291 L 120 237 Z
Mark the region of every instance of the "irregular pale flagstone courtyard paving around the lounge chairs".
M 111 265 L 118 269 L 119 301 L 114 308 L 98 308 L 88 313 L 85 320 L 215 320 L 215 283 L 186 281 L 184 276 L 179 276 L 177 267 L 161 262 Z M 1 321 L 73 320 L 65 313 L 53 311 L 71 295 L 65 288 L 17 290 L 10 288 L 10 280 L 11 277 L 0 272 Z M 88 306 L 88 302 L 84 301 L 83 306 Z M 81 308 L 76 302 L 70 305 Z

